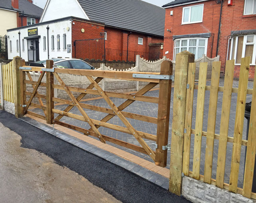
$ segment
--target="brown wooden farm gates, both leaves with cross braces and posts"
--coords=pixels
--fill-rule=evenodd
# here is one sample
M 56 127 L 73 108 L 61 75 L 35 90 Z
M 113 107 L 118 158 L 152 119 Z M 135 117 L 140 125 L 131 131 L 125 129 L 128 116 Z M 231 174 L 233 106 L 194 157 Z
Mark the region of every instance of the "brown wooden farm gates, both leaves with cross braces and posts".
M 172 83 L 172 63 L 170 61 L 164 61 L 161 65 L 161 73 L 141 73 L 141 72 L 123 72 L 123 71 L 95 71 L 95 70 L 82 70 L 82 69 L 60 69 L 53 68 L 53 61 L 46 61 L 46 69 L 40 67 L 28 67 L 24 65 L 24 61 L 21 58 L 15 58 L 16 64 L 19 64 L 19 78 L 20 78 L 20 104 L 21 108 L 19 110 L 18 116 L 23 116 L 24 114 L 30 114 L 42 119 L 45 119 L 48 124 L 59 124 L 67 128 L 77 130 L 85 135 L 90 135 L 97 137 L 101 142 L 106 141 L 115 143 L 117 145 L 144 153 L 149 155 L 158 166 L 165 167 L 167 164 L 167 147 L 163 149 L 163 146 L 168 144 L 168 131 L 169 131 L 169 112 L 170 112 L 170 99 L 171 99 L 171 83 Z M 30 76 L 30 71 L 38 71 L 40 77 L 38 81 L 33 81 Z M 60 77 L 60 74 L 74 74 L 74 75 L 85 75 L 90 81 L 90 85 L 86 89 L 77 87 L 68 87 L 65 85 L 64 81 Z M 46 74 L 46 83 L 42 82 L 44 75 Z M 54 77 L 58 81 L 58 85 L 54 84 Z M 93 79 L 95 77 L 95 79 Z M 114 93 L 103 91 L 98 84 L 103 78 L 111 79 L 122 79 L 131 81 L 145 82 L 147 85 L 139 90 L 135 94 L 128 93 Z M 149 90 L 151 90 L 156 85 L 159 85 L 159 97 L 149 97 L 144 96 Z M 32 91 L 28 91 L 27 85 L 32 85 Z M 38 87 L 45 88 L 46 95 L 38 93 Z M 93 89 L 95 88 L 95 89 Z M 69 100 L 60 99 L 54 97 L 54 89 L 64 90 L 69 96 Z M 79 93 L 78 97 L 74 97 L 72 92 Z M 111 108 L 103 108 L 100 106 L 93 106 L 81 102 L 85 95 L 100 95 L 107 102 Z M 28 98 L 27 98 L 28 97 Z M 110 97 L 126 99 L 121 105 L 116 106 L 110 99 Z M 34 98 L 38 99 L 38 103 L 32 102 Z M 28 101 L 27 101 L 28 99 Z M 152 102 L 157 103 L 159 106 L 158 117 L 144 116 L 136 113 L 125 112 L 124 109 L 132 104 L 134 101 L 142 102 Z M 59 102 L 62 104 L 68 104 L 65 110 L 58 110 L 54 108 L 54 102 Z M 20 105 L 18 105 L 20 106 Z M 44 111 L 44 115 L 37 114 L 29 110 L 29 107 L 40 108 Z M 77 115 L 70 113 L 72 108 L 78 108 L 79 112 L 82 114 Z M 98 112 L 107 113 L 107 116 L 101 120 L 95 120 L 90 118 L 85 112 L 84 108 L 95 110 Z M 54 114 L 58 114 L 54 117 Z M 69 118 L 74 118 L 87 122 L 90 125 L 90 129 L 81 128 L 81 126 L 74 126 L 60 121 L 63 116 Z M 108 121 L 114 116 L 118 116 L 119 119 L 125 124 L 126 127 L 114 125 L 108 123 Z M 157 135 L 140 132 L 136 130 L 127 118 L 132 118 L 136 120 L 141 120 L 144 122 L 157 124 Z M 98 128 L 102 126 L 104 128 L 109 128 L 117 130 L 119 132 L 125 132 L 131 134 L 136 138 L 141 146 L 124 142 L 112 138 L 107 135 L 103 135 L 99 132 Z M 144 139 L 153 140 L 157 143 L 158 148 L 156 151 L 152 150 L 151 147 L 145 142 Z

